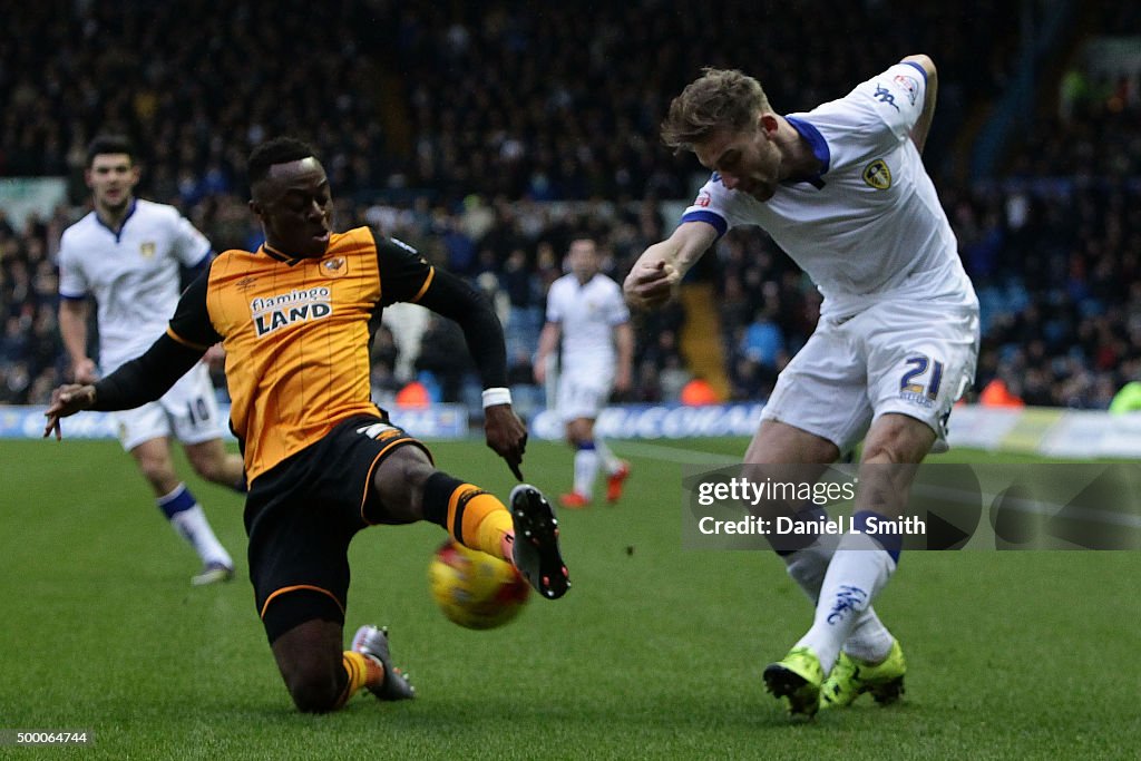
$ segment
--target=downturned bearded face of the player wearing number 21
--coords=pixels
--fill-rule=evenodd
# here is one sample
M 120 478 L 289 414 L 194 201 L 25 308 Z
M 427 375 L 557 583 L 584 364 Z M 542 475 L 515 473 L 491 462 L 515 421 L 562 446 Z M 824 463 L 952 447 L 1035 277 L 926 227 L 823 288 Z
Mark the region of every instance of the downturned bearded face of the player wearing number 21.
M 780 181 L 780 152 L 774 133 L 758 122 L 751 129 L 723 129 L 694 145 L 703 167 L 721 175 L 730 191 L 747 193 L 758 201 L 768 201 Z

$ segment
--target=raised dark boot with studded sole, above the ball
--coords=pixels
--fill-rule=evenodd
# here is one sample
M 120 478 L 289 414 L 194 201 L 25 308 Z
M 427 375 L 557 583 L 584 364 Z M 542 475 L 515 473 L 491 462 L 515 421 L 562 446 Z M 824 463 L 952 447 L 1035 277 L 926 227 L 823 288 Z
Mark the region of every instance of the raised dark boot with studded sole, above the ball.
M 511 517 L 515 567 L 543 597 L 566 594 L 570 575 L 559 551 L 559 521 L 547 497 L 531 484 L 519 484 L 511 489 Z

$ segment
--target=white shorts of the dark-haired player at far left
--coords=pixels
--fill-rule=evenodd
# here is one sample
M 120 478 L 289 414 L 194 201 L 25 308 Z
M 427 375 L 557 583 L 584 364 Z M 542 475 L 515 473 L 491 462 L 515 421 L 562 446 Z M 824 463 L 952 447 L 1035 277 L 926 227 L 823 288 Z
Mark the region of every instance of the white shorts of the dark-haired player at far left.
M 119 440 L 128 452 L 143 442 L 171 434 L 183 444 L 201 444 L 222 435 L 210 371 L 201 362 L 157 402 L 115 412 L 114 416 Z

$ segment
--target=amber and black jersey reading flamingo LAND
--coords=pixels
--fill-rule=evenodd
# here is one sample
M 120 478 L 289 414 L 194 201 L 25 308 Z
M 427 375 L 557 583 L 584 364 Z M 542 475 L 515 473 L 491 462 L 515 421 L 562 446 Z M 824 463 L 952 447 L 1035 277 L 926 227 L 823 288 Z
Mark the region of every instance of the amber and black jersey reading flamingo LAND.
M 250 480 L 338 422 L 380 414 L 369 349 L 381 310 L 419 301 L 435 275 L 411 246 L 361 227 L 333 234 L 321 259 L 225 251 L 187 289 L 168 334 L 196 349 L 222 342 Z

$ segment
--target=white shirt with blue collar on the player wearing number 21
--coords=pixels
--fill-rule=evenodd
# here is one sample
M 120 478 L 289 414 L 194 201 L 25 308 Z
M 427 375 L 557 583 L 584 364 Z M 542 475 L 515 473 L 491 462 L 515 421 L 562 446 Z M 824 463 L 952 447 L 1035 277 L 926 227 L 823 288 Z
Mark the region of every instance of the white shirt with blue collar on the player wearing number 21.
M 850 316 L 884 297 L 977 303 L 955 235 L 908 137 L 923 111 L 926 72 L 896 64 L 845 97 L 788 122 L 820 160 L 809 181 L 761 202 L 714 172 L 682 222 L 719 235 L 759 225 L 816 283 L 822 313 Z

